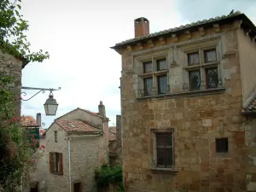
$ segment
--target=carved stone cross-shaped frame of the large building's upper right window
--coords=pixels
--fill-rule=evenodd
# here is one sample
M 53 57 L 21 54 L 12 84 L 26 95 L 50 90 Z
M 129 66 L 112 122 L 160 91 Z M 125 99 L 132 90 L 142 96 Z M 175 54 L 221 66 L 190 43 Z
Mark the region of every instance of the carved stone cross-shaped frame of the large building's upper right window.
M 210 49 L 216 49 L 216 59 L 217 61 L 205 62 L 205 51 Z M 197 65 L 189 66 L 189 58 L 188 55 L 191 53 L 199 53 L 200 62 Z M 212 88 L 211 90 L 222 88 L 222 72 L 220 67 L 220 61 L 222 58 L 222 49 L 221 49 L 221 39 L 217 39 L 214 41 L 203 42 L 201 44 L 191 44 L 189 46 L 183 47 L 183 53 L 186 55 L 185 65 L 183 66 L 183 82 L 185 82 L 185 89 L 190 91 L 190 82 L 189 82 L 189 72 L 199 70 L 201 75 L 201 88 L 200 90 L 207 90 L 207 77 L 206 77 L 206 69 L 217 67 L 218 69 L 218 87 Z

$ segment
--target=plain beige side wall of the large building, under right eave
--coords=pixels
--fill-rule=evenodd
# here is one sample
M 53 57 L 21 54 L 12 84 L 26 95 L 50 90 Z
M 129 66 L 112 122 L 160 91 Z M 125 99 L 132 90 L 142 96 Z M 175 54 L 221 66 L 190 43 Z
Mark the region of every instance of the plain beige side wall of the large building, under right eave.
M 243 91 L 243 102 L 256 87 L 256 44 L 249 36 L 245 36 L 242 30 L 237 31 L 238 48 L 240 52 L 241 65 L 241 87 Z

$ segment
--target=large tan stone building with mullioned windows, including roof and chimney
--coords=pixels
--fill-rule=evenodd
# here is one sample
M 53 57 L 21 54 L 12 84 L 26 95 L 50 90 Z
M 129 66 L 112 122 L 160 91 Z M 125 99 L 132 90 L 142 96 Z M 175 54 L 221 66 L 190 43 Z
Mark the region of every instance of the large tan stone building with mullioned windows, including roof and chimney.
M 236 12 L 155 33 L 145 18 L 134 26 L 112 47 L 126 191 L 256 191 L 245 131 L 255 125 L 241 114 L 256 88 L 253 22 Z

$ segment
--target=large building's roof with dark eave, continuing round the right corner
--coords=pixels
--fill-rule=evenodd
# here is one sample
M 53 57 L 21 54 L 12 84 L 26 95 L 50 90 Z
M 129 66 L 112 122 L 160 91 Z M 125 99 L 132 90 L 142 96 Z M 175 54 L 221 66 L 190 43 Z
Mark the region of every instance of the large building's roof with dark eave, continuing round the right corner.
M 237 20 L 237 19 L 242 19 L 244 22 L 246 22 L 246 25 L 249 26 L 250 28 L 253 28 L 252 32 L 256 34 L 256 27 L 253 25 L 253 22 L 247 18 L 246 15 L 241 14 L 240 11 L 236 11 L 233 14 L 230 15 L 222 15 L 222 16 L 217 16 L 215 18 L 210 18 L 208 20 L 198 20 L 197 22 L 193 22 L 184 26 L 178 26 L 174 28 L 170 28 L 164 31 L 160 32 L 154 32 L 150 33 L 148 35 L 140 36 L 137 38 L 131 38 L 125 41 L 122 41 L 121 43 L 115 44 L 112 49 L 118 49 L 121 48 L 123 45 L 128 45 L 128 44 L 135 44 L 139 41 L 146 40 L 148 38 L 156 38 L 159 36 L 165 36 L 170 33 L 179 33 L 183 32 L 185 30 L 198 30 L 199 26 L 206 26 L 207 24 L 213 24 L 213 23 L 224 23 L 224 22 L 230 22 L 232 20 Z M 243 24 L 242 24 L 243 25 Z

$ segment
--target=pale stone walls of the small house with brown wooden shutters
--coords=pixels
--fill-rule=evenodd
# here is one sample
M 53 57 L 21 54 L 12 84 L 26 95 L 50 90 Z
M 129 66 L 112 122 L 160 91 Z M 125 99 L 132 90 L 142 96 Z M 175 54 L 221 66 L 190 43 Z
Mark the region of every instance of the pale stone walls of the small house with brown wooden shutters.
M 58 132 L 58 142 L 54 142 L 54 131 Z M 102 166 L 100 158 L 104 139 L 97 137 L 72 137 L 71 139 L 71 178 L 72 184 L 80 182 L 82 192 L 96 192 L 94 172 Z M 67 133 L 59 125 L 52 125 L 45 138 L 46 151 L 38 161 L 38 170 L 33 181 L 39 182 L 42 192 L 69 192 L 69 168 Z M 58 176 L 49 172 L 49 152 L 63 154 L 63 175 Z M 72 185 L 73 186 L 73 185 Z M 72 188 L 73 190 L 73 188 Z

